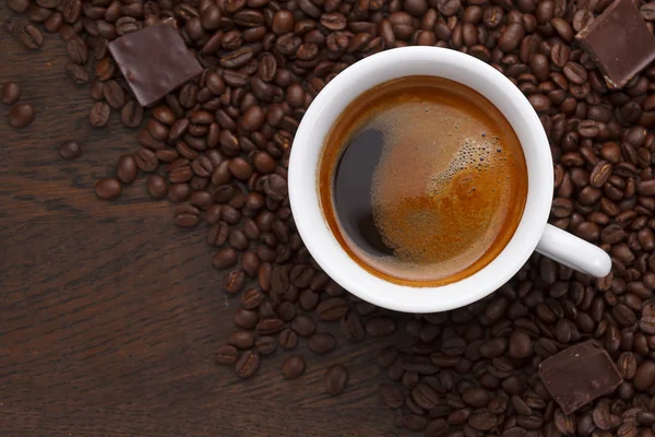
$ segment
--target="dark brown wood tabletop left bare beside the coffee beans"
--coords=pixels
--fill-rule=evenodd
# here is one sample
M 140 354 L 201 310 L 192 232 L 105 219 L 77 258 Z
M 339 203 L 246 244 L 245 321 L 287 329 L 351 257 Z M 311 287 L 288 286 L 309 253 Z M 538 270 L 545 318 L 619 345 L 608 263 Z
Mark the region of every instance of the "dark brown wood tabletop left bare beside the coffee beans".
M 377 394 L 383 341 L 340 338 L 327 356 L 302 343 L 308 370 L 294 381 L 282 379 L 281 353 L 249 381 L 215 365 L 237 302 L 221 290 L 205 225 L 176 228 L 143 179 L 117 201 L 95 198 L 95 179 L 136 150 L 136 131 L 117 114 L 92 129 L 88 88 L 64 63 L 58 35 L 29 51 L 0 34 L 0 83 L 19 82 L 36 107 L 16 131 L 0 104 L 0 435 L 402 435 Z M 62 161 L 64 140 L 83 155 Z M 337 363 L 350 382 L 330 398 L 323 376 Z

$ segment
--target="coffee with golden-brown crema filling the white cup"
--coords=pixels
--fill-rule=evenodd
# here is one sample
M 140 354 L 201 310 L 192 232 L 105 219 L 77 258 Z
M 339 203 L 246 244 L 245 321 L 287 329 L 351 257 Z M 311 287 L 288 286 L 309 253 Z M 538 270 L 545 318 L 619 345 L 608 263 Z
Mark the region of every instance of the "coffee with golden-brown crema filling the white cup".
M 325 216 L 350 257 L 374 274 L 414 286 L 454 282 L 488 264 L 511 239 L 527 193 L 523 151 L 507 119 L 477 92 L 429 76 L 393 82 L 358 97 L 342 115 L 352 114 L 348 122 L 337 121 L 330 133 L 326 143 L 341 144 L 330 172 L 337 220 Z M 346 153 L 350 147 L 361 152 Z M 369 155 L 377 163 L 362 161 Z M 354 168 L 364 173 L 348 187 L 353 192 L 371 168 L 370 213 L 388 250 L 362 244 L 362 226 L 354 224 L 361 201 L 340 191 L 354 178 L 348 160 L 360 160 Z

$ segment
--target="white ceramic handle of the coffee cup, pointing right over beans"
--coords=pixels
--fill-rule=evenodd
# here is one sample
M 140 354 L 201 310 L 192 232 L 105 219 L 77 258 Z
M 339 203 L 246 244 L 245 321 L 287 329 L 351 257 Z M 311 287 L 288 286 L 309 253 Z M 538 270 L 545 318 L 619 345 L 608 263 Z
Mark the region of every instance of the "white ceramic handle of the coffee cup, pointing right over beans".
M 607 276 L 611 270 L 611 259 L 605 250 L 550 224 L 546 225 L 536 251 L 596 277 Z

